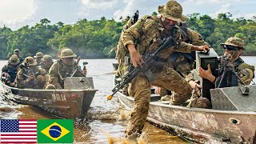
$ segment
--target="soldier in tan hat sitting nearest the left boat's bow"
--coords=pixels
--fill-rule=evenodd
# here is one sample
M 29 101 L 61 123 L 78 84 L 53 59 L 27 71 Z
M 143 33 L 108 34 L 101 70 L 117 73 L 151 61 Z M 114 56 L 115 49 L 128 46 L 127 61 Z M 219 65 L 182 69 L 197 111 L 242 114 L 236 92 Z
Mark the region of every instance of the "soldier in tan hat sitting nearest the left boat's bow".
M 64 89 L 64 79 L 66 77 L 85 77 L 86 70 L 81 70 L 78 62 L 74 61 L 77 55 L 73 50 L 68 48 L 63 49 L 61 54 L 58 55 L 57 62 L 50 67 L 49 71 L 49 84 L 46 86 L 47 90 L 51 89 Z

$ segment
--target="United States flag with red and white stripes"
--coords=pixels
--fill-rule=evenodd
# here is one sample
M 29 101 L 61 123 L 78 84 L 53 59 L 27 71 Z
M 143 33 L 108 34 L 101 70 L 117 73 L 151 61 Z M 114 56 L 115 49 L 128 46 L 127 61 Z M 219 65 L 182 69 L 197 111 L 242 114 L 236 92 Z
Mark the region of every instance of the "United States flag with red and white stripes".
M 36 143 L 36 119 L 1 119 L 0 143 Z

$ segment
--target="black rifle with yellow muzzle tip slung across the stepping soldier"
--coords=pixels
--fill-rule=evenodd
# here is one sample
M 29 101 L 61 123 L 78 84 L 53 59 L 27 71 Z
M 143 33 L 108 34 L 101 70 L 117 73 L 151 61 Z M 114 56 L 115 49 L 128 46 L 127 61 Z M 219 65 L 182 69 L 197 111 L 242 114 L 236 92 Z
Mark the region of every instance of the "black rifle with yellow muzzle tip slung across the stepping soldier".
M 155 62 L 155 59 L 157 58 L 158 53 L 161 52 L 166 47 L 177 46 L 177 45 L 178 45 L 178 43 L 171 36 L 169 38 L 164 39 L 162 41 L 162 45 L 158 47 L 158 50 L 155 50 L 153 54 L 147 54 L 143 58 L 144 62 L 142 62 L 142 67 L 137 66 L 133 70 L 131 70 L 129 73 L 126 73 L 124 75 L 124 78 L 122 78 L 122 81 L 119 82 L 116 86 L 114 86 L 114 89 L 112 90 L 113 94 L 109 95 L 107 97 L 107 100 L 112 99 L 113 95 L 116 94 L 118 92 L 118 90 L 120 90 L 123 86 L 126 86 L 129 82 L 131 82 L 131 80 L 133 80 L 134 77 L 139 72 L 142 72 L 146 75 L 150 74 L 150 73 L 152 74 L 151 68 L 153 66 L 153 63 Z M 147 78 L 149 79 L 149 77 L 147 77 Z

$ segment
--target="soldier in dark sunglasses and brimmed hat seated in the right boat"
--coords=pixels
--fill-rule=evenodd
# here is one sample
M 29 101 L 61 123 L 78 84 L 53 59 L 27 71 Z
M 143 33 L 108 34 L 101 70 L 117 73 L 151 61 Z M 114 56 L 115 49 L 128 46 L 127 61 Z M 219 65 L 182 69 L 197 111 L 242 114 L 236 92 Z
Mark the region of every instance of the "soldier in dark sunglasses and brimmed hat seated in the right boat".
M 230 64 L 234 65 L 234 71 L 238 74 L 238 77 L 241 78 L 242 82 L 246 85 L 250 85 L 250 82 L 254 78 L 254 66 L 251 66 L 244 62 L 242 58 L 240 58 L 240 55 L 242 54 L 242 50 L 246 50 L 244 46 L 244 42 L 241 38 L 235 38 L 231 37 L 226 40 L 226 42 L 221 43 L 220 46 L 224 49 L 224 55 L 226 55 L 229 58 Z M 208 69 L 203 70 L 202 67 L 199 67 L 198 70 L 199 76 L 205 79 L 208 79 L 210 82 L 216 83 L 217 79 L 211 70 L 210 70 L 210 64 L 208 64 Z M 186 80 L 188 82 L 194 82 L 194 74 L 190 73 Z M 242 86 L 242 82 L 239 81 L 238 86 Z M 194 85 L 194 88 L 201 88 L 199 85 Z M 195 98 L 191 102 L 191 106 L 193 107 L 202 107 L 206 108 L 209 106 L 209 100 L 201 100 L 201 102 L 198 102 L 198 99 Z M 208 104 L 206 104 L 208 103 Z M 206 106 L 206 107 L 204 107 Z

